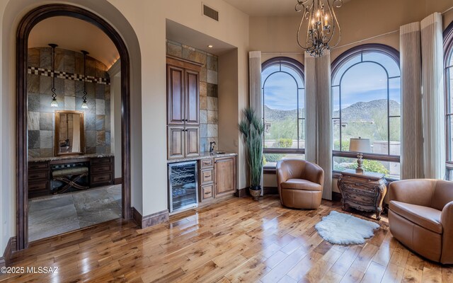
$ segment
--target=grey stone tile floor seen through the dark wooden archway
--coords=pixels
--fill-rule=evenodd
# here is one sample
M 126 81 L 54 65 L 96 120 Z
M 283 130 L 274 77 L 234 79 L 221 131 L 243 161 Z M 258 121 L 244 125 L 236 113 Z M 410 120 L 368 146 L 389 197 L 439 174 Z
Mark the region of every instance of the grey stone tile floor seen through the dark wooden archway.
M 121 217 L 121 185 L 52 195 L 28 202 L 28 241 Z

